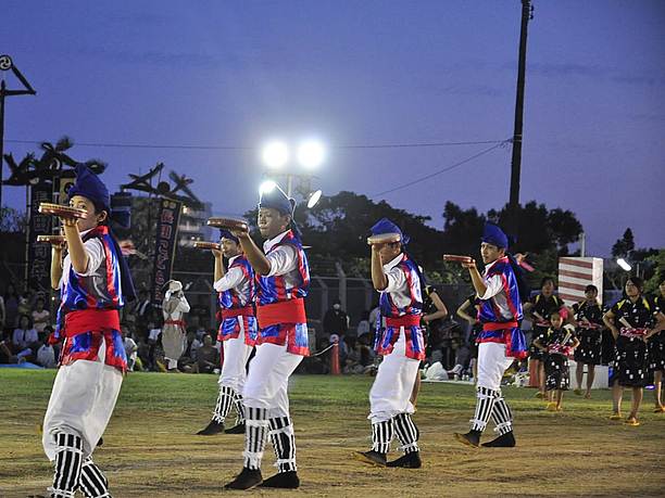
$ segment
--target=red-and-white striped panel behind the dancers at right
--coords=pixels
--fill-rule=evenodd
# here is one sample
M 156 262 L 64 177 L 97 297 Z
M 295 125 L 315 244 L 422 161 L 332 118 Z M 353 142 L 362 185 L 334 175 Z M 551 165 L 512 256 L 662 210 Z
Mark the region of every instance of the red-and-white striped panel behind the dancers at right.
M 559 258 L 559 296 L 567 306 L 585 298 L 585 288 L 595 285 L 603 295 L 603 260 L 598 257 Z

